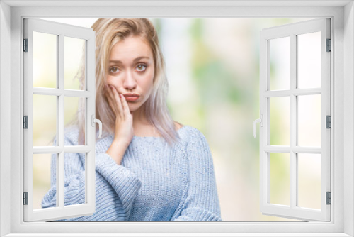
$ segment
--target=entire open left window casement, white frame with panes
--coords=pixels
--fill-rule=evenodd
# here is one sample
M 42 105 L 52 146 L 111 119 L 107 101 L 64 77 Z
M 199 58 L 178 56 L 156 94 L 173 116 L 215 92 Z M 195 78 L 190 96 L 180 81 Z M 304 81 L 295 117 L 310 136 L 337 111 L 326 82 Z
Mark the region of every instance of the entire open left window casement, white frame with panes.
M 53 221 L 93 214 L 95 32 L 91 28 L 25 18 L 23 59 L 24 221 Z M 75 71 L 81 72 L 80 86 L 74 83 Z M 84 143 L 70 145 L 65 143 L 64 134 L 69 131 L 67 120 L 76 114 L 85 130 Z M 78 153 L 84 157 L 81 174 L 84 202 L 67 205 L 65 197 L 75 190 L 66 188 L 64 158 L 74 158 Z M 54 205 L 44 208 L 41 202 L 48 192 L 54 197 Z

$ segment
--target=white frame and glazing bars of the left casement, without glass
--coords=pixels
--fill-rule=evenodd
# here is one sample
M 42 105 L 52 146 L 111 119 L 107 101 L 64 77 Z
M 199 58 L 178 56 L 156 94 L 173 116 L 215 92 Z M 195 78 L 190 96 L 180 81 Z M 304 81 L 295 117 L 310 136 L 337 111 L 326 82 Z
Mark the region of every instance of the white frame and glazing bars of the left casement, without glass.
M 95 77 L 95 51 L 96 33 L 91 28 L 71 26 L 68 24 L 44 21 L 37 18 L 24 19 L 24 35 L 28 40 L 28 51 L 23 53 L 24 60 L 24 115 L 28 116 L 28 128 L 23 131 L 24 152 L 24 191 L 28 193 L 28 203 L 24 205 L 25 221 L 52 221 L 76 216 L 92 215 L 95 212 L 95 149 L 96 149 L 96 77 Z M 50 33 L 57 38 L 57 78 L 56 88 L 33 87 L 33 32 Z M 64 49 L 65 37 L 84 40 L 85 44 L 85 88 L 82 91 L 65 89 L 64 85 Z M 33 95 L 51 95 L 57 97 L 56 121 L 57 121 L 57 145 L 33 147 Z M 65 98 L 85 98 L 85 144 L 67 146 L 64 145 L 64 110 Z M 91 121 L 92 120 L 92 121 Z M 47 209 L 33 208 L 33 155 L 34 154 L 57 154 L 57 206 Z M 85 154 L 85 203 L 65 206 L 64 204 L 64 156 L 65 153 Z

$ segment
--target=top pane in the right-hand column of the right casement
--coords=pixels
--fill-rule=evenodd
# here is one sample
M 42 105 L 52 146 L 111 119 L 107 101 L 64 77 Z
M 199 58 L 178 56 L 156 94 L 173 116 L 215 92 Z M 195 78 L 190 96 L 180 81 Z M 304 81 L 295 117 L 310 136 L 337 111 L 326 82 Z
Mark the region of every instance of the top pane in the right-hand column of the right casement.
M 297 35 L 298 88 L 321 87 L 321 31 Z

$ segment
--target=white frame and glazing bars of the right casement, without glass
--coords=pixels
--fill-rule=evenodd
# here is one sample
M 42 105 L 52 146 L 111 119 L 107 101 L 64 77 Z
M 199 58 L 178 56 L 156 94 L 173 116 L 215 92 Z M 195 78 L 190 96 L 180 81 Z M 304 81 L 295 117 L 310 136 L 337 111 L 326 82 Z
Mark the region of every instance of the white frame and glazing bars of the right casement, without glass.
M 298 23 L 285 24 L 265 28 L 260 36 L 260 115 L 263 126 L 259 129 L 260 143 L 260 207 L 262 214 L 271 216 L 285 216 L 287 218 L 306 221 L 330 221 L 331 205 L 326 204 L 326 192 L 331 192 L 331 129 L 326 128 L 326 116 L 331 115 L 331 52 L 327 52 L 326 40 L 331 38 L 331 21 L 329 18 L 317 18 Z M 320 32 L 321 48 L 321 87 L 298 88 L 298 36 L 308 33 Z M 279 38 L 289 38 L 290 51 L 290 87 L 289 89 L 270 90 L 270 41 Z M 299 96 L 319 94 L 321 97 L 321 146 L 319 148 L 304 147 L 297 143 Z M 288 98 L 290 102 L 290 143 L 289 145 L 270 144 L 270 101 L 271 98 Z M 290 161 L 290 205 L 274 204 L 270 201 L 270 154 L 285 153 Z M 321 155 L 321 203 L 320 209 L 309 209 L 298 206 L 299 184 L 298 155 L 301 153 L 314 153 Z

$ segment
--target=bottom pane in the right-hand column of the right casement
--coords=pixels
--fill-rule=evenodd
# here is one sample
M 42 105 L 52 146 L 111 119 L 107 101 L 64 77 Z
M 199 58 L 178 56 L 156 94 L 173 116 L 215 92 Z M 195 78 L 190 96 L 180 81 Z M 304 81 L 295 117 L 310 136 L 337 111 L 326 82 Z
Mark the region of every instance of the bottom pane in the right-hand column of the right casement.
M 321 154 L 298 154 L 297 206 L 321 209 Z

